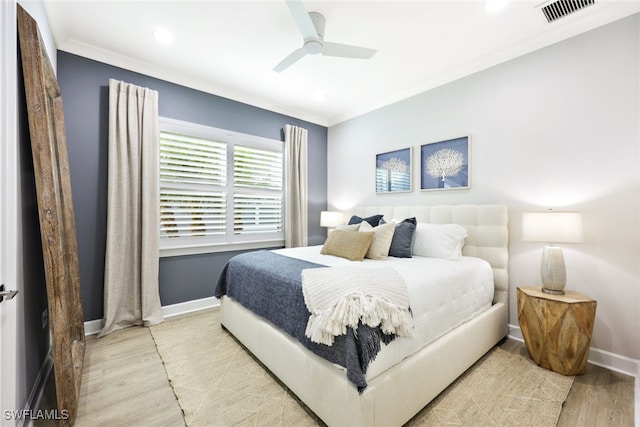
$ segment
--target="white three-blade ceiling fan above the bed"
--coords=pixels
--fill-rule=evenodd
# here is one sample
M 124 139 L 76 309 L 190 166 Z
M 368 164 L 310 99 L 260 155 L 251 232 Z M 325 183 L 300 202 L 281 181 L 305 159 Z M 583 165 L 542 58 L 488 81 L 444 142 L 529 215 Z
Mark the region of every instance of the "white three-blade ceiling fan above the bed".
M 294 50 L 276 65 L 273 71 L 278 73 L 284 71 L 306 55 L 322 54 L 343 58 L 369 59 L 376 53 L 375 49 L 324 41 L 324 16 L 318 12 L 307 12 L 300 0 L 287 0 L 286 3 L 300 33 L 302 33 L 304 43 L 301 48 Z

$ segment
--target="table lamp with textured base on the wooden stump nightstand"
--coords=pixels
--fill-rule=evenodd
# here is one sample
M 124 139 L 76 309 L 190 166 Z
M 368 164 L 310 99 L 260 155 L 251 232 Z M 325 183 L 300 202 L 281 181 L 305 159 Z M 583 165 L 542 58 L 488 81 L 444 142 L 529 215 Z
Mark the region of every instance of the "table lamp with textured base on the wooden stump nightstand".
M 540 274 L 542 291 L 564 294 L 567 273 L 562 248 L 554 243 L 582 242 L 582 215 L 578 212 L 529 212 L 522 215 L 522 240 L 546 242 Z

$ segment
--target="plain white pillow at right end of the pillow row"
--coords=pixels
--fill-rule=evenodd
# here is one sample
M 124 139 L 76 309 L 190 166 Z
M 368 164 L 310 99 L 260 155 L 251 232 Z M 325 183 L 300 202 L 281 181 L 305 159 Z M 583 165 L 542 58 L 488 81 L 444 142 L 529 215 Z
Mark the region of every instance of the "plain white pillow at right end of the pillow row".
M 429 224 L 419 222 L 413 242 L 413 254 L 432 258 L 457 260 L 467 229 L 458 224 Z

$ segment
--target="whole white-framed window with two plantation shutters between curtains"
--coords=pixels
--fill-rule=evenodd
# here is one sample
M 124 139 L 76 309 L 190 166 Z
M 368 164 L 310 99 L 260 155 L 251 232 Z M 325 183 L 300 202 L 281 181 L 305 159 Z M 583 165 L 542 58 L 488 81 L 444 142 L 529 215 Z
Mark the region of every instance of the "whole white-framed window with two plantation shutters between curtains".
M 282 146 L 161 118 L 161 255 L 282 245 Z

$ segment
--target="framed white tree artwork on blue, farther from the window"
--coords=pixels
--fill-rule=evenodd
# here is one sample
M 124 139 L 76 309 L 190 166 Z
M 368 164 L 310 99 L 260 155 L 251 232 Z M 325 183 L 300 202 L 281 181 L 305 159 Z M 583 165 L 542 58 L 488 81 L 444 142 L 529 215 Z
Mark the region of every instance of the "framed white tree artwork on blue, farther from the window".
M 420 189 L 470 188 L 469 136 L 420 146 Z

